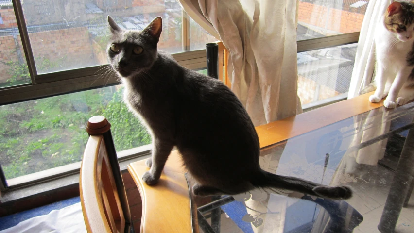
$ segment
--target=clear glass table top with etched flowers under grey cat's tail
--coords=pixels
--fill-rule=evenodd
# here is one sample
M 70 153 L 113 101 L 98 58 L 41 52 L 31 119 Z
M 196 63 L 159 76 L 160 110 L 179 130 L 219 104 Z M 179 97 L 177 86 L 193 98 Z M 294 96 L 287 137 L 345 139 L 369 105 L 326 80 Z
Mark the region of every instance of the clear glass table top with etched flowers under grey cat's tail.
M 414 103 L 381 107 L 262 149 L 262 169 L 348 185 L 349 200 L 285 190 L 192 196 L 194 225 L 200 233 L 413 233 L 413 117 Z

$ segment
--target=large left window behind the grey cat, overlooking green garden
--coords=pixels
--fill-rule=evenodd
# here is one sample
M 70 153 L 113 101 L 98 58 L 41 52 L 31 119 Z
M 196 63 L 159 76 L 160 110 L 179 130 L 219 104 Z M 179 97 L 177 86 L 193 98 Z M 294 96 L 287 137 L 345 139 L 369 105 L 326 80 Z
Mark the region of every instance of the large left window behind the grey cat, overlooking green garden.
M 0 161 L 10 187 L 78 166 L 91 116 L 108 116 L 118 151 L 151 142 L 121 101 L 117 78 L 104 72 L 107 15 L 138 30 L 161 16 L 159 48 L 191 69 L 206 67 L 205 44 L 216 40 L 189 27 L 175 0 L 24 0 L 16 14 L 4 2 L 11 9 L 0 9 Z M 190 48 L 194 42 L 200 46 Z

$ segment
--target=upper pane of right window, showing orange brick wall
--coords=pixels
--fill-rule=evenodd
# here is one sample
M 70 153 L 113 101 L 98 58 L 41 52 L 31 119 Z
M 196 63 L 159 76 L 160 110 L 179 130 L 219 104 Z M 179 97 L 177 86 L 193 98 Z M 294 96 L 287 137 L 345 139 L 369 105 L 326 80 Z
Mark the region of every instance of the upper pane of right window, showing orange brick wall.
M 299 0 L 297 40 L 359 32 L 369 0 Z

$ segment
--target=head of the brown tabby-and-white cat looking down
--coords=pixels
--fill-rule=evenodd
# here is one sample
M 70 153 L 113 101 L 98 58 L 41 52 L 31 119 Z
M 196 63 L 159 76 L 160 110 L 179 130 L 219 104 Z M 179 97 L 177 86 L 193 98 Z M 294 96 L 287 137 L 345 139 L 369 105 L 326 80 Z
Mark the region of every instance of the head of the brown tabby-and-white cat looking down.
M 395 1 L 388 6 L 384 19 L 385 27 L 400 41 L 409 41 L 414 37 L 414 3 Z

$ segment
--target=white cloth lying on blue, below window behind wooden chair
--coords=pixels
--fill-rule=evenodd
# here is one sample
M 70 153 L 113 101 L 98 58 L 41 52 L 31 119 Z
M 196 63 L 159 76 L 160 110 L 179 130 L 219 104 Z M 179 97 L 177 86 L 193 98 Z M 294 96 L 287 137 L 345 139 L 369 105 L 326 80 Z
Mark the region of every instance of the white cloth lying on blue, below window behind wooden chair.
M 0 233 L 86 233 L 81 203 L 24 220 Z

